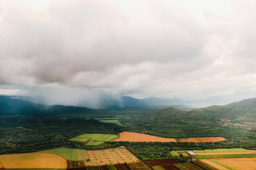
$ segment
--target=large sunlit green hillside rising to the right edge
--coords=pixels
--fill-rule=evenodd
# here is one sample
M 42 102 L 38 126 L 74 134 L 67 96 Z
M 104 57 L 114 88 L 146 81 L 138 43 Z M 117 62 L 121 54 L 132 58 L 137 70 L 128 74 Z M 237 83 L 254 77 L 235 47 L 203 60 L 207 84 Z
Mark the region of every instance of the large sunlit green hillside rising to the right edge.
M 225 106 L 209 106 L 187 113 L 187 118 L 202 120 L 230 120 L 256 122 L 256 98 L 230 103 Z

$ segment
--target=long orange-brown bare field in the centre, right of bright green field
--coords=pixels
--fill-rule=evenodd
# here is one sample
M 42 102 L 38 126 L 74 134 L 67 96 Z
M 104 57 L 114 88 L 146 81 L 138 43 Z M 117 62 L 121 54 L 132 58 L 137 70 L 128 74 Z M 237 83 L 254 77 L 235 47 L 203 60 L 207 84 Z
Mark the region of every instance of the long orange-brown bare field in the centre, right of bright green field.
M 130 133 L 130 132 L 123 132 L 119 133 L 119 138 L 111 140 L 114 142 L 176 142 L 175 139 L 171 138 L 160 138 L 157 136 L 151 136 L 141 133 Z

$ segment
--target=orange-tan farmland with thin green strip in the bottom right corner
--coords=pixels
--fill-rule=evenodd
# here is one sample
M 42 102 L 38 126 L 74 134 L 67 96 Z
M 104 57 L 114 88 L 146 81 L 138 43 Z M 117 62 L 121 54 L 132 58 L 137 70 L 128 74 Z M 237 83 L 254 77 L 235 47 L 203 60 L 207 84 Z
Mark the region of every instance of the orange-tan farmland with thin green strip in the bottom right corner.
M 256 169 L 256 157 L 252 158 L 234 158 L 234 159 L 216 159 L 201 160 L 216 169 L 232 169 L 232 170 L 252 170 Z

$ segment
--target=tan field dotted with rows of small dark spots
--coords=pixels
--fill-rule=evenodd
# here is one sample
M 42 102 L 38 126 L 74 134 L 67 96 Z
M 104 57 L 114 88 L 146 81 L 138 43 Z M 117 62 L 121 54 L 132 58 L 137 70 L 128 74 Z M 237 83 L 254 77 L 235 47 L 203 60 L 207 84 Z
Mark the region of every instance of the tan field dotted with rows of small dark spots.
M 137 163 L 140 160 L 125 147 L 87 151 L 90 161 L 84 161 L 85 166 L 114 165 L 118 163 Z

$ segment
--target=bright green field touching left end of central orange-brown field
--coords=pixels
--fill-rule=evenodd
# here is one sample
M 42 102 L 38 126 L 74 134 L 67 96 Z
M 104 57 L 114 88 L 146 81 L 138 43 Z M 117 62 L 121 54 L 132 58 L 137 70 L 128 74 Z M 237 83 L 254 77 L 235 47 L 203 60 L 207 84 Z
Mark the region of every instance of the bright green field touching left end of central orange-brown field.
M 113 134 L 84 133 L 83 135 L 76 136 L 69 140 L 75 142 L 89 142 L 89 145 L 100 145 L 116 138 L 118 138 L 118 136 Z

